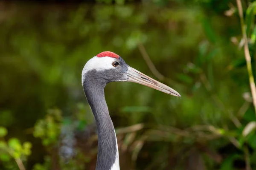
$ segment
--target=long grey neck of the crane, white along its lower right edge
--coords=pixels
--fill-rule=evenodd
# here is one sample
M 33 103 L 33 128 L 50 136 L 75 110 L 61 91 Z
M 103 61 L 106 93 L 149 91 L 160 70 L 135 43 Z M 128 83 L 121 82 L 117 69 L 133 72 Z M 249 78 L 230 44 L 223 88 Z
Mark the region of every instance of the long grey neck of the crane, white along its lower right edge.
M 96 170 L 119 170 L 119 153 L 116 133 L 108 112 L 104 88 L 106 83 L 95 82 L 95 77 L 86 77 L 84 94 L 93 112 L 98 133 Z M 91 80 L 91 81 L 90 81 Z

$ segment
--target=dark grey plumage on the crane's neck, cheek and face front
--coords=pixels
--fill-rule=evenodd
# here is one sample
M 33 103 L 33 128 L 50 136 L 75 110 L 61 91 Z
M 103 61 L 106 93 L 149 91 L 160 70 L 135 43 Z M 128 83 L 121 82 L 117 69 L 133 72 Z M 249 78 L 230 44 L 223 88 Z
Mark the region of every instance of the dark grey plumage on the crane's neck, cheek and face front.
M 128 65 L 119 58 L 119 70 L 91 70 L 83 75 L 83 89 L 93 112 L 98 133 L 98 156 L 96 170 L 110 170 L 116 158 L 116 134 L 108 112 L 104 88 L 109 82 L 127 79 L 123 73 Z

